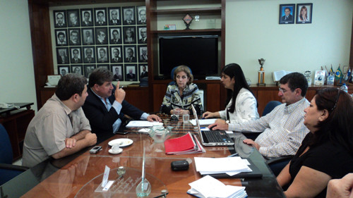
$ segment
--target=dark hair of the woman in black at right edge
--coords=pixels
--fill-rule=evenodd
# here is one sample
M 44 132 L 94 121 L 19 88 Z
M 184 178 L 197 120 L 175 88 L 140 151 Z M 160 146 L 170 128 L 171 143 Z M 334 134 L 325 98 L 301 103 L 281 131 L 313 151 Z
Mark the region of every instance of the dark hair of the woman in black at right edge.
M 326 88 L 316 92 L 315 103 L 318 110 L 328 111 L 328 118 L 316 125 L 319 130 L 314 133 L 312 144 L 330 140 L 353 154 L 352 97 L 340 89 Z

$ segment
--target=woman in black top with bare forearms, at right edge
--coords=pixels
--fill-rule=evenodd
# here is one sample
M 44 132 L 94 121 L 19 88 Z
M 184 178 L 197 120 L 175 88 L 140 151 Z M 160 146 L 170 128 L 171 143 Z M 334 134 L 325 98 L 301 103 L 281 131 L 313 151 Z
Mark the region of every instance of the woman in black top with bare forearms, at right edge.
M 353 172 L 353 99 L 340 89 L 318 90 L 304 110 L 310 132 L 277 176 L 287 197 L 325 197 L 330 179 Z

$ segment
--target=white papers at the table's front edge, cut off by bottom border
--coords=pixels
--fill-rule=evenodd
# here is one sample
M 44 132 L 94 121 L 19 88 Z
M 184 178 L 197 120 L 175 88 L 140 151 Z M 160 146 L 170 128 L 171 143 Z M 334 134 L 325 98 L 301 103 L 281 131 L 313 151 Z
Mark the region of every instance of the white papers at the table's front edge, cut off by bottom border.
M 191 189 L 187 193 L 196 197 L 247 197 L 245 187 L 225 185 L 209 175 L 189 185 Z

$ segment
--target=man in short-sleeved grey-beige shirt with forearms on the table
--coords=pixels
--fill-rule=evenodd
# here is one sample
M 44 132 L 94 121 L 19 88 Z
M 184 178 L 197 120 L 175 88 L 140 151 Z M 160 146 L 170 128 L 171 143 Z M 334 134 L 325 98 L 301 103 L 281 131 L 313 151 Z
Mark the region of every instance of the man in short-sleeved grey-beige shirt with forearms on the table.
M 82 75 L 64 75 L 53 97 L 30 121 L 23 144 L 23 166 L 32 167 L 50 156 L 64 156 L 92 146 L 97 136 L 81 106 L 88 96 L 87 80 Z

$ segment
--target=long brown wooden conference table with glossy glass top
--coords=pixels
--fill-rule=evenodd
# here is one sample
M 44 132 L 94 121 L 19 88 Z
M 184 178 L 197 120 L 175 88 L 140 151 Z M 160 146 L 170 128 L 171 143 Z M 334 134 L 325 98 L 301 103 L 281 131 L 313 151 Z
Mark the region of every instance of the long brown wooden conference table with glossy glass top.
M 164 116 L 164 127 L 172 128 L 168 138 L 181 137 L 188 132 L 197 135 L 191 123 L 171 122 Z M 192 118 L 192 116 L 191 116 Z M 249 197 L 285 197 L 272 171 L 261 154 L 253 147 L 242 143 L 244 135 L 231 135 L 235 145 L 229 147 L 204 147 L 205 153 L 166 155 L 164 144 L 156 143 L 148 132 L 141 128 L 128 128 L 126 135 L 114 135 L 99 146 L 102 150 L 90 154 L 92 147 L 83 149 L 63 159 L 48 159 L 30 168 L 0 187 L 1 197 L 137 197 L 136 186 L 141 181 L 143 150 L 145 150 L 145 178 L 150 182 L 148 197 L 193 197 L 186 193 L 189 183 L 202 178 L 196 171 L 194 157 L 225 157 L 237 152 L 251 159 L 263 174 L 262 178 L 218 178 L 225 185 L 246 187 Z M 123 147 L 120 154 L 110 154 L 108 142 L 125 138 L 133 141 Z M 172 171 L 172 161 L 192 161 L 186 171 Z M 108 180 L 114 181 L 109 190 L 102 191 L 104 169 L 110 168 Z M 121 167 L 121 168 L 119 168 Z M 120 172 L 119 172 L 120 171 Z M 121 172 L 122 171 L 122 172 Z

